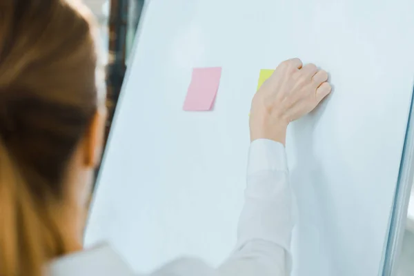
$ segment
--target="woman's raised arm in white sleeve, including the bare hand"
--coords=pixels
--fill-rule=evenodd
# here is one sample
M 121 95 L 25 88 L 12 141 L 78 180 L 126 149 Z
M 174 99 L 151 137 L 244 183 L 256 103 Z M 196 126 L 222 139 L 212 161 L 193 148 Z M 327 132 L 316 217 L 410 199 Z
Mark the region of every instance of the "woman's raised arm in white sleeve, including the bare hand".
M 314 64 L 289 59 L 257 91 L 250 112 L 245 205 L 237 247 L 219 275 L 279 276 L 291 269 L 293 194 L 284 144 L 290 121 L 313 110 L 331 92 L 328 75 Z

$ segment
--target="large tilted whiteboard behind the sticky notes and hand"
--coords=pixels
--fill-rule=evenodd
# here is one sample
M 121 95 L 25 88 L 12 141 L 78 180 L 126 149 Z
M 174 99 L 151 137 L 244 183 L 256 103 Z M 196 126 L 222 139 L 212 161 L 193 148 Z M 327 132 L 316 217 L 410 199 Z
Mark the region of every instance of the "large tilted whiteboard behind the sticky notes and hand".
M 383 3 L 384 2 L 384 3 Z M 152 0 L 103 160 L 86 245 L 135 270 L 217 265 L 243 204 L 259 70 L 290 57 L 333 93 L 291 124 L 293 275 L 380 275 L 413 90 L 414 1 Z M 214 110 L 184 112 L 194 67 L 221 66 Z

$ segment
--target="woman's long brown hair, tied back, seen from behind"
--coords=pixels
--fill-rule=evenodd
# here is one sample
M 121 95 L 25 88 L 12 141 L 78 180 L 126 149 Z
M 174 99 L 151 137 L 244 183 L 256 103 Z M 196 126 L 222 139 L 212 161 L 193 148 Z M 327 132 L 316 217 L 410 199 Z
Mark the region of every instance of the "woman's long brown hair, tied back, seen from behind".
M 95 37 L 63 0 L 0 2 L 0 275 L 68 251 L 63 175 L 97 111 Z

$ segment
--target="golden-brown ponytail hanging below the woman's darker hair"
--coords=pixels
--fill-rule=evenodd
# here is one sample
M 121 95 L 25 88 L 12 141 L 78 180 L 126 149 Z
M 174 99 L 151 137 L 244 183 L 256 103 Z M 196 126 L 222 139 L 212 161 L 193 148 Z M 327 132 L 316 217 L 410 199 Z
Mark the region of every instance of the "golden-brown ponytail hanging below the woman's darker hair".
M 64 252 L 57 224 L 41 207 L 46 203 L 37 201 L 0 139 L 1 276 L 41 276 L 45 264 Z

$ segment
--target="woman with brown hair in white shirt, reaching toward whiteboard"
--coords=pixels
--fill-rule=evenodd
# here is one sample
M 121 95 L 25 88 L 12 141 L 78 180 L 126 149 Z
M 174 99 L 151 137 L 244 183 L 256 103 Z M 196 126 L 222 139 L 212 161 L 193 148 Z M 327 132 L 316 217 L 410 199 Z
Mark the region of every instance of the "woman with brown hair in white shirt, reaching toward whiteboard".
M 1 276 L 132 274 L 110 248 L 82 251 L 106 117 L 96 32 L 75 1 L 0 3 Z M 235 253 L 217 269 L 181 259 L 153 275 L 286 275 L 293 226 L 286 128 L 331 92 L 327 79 L 290 59 L 255 95 Z M 282 215 L 273 216 L 277 209 Z

